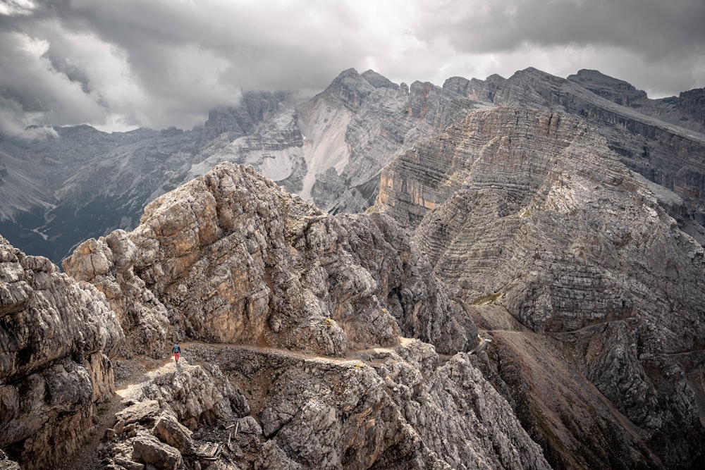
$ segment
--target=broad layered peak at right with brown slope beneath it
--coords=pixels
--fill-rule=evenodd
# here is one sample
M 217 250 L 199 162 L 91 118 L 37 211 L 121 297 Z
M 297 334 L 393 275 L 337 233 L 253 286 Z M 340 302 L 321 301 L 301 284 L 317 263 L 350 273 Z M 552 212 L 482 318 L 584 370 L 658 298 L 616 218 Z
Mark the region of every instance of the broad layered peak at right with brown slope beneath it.
M 528 402 L 514 400 L 558 454 L 553 464 L 570 466 L 571 443 L 594 443 L 593 452 L 601 444 L 587 429 L 615 423 L 610 432 L 631 449 L 615 447 L 618 468 L 629 467 L 630 452 L 654 468 L 702 455 L 703 248 L 587 123 L 550 111 L 478 111 L 400 156 L 381 181 L 381 209 L 417 225 L 415 240 L 453 297 L 481 328 L 499 330 L 493 354 L 524 361 L 508 381 L 529 390 Z M 519 323 L 494 324 L 491 304 Z M 529 366 L 565 362 L 580 371 L 575 383 Z M 593 386 L 599 392 L 584 392 Z M 574 403 L 546 400 L 546 390 L 599 417 L 576 417 Z M 541 418 L 548 410 L 560 419 Z

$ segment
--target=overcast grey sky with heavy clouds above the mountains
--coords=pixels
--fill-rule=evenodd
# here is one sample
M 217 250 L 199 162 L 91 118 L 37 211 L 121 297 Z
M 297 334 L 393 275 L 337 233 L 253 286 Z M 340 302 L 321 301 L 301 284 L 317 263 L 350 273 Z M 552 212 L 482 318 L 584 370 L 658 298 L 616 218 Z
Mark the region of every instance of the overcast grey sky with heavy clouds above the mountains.
M 0 132 L 190 129 L 241 90 L 594 68 L 705 86 L 703 0 L 0 0 Z

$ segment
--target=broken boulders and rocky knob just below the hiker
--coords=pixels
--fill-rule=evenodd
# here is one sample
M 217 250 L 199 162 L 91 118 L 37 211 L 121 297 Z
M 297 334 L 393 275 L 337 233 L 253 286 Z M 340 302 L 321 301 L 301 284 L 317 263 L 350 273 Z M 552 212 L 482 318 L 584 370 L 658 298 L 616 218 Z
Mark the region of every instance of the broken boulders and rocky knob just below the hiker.
M 101 445 L 104 468 L 197 462 L 204 442 L 192 430 L 225 428 L 250 412 L 243 392 L 213 364 L 179 364 L 134 387 L 123 402 L 130 406 L 115 414 Z

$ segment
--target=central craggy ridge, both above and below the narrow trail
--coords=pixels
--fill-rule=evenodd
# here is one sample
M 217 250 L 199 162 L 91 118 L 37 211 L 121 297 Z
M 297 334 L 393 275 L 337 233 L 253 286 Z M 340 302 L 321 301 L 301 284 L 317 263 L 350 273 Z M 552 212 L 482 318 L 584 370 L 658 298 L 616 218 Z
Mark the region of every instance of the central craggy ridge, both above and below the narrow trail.
M 221 462 L 256 468 L 549 468 L 465 352 L 478 345 L 467 312 L 384 214 L 330 216 L 222 163 L 64 266 L 119 285 L 113 305 L 151 292 L 168 315 L 163 345 L 177 337 L 188 361 L 131 395 L 106 462 L 175 468 L 227 441 Z M 132 276 L 145 290 L 123 287 Z

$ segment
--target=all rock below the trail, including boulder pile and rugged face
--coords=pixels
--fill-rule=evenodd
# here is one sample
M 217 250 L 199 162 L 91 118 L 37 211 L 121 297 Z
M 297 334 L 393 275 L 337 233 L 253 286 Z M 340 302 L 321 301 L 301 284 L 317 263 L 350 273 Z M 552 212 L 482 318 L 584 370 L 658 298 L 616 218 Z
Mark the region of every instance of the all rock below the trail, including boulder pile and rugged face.
M 212 407 L 190 420 L 190 431 L 177 421 L 183 416 L 174 407 L 182 398 L 149 400 L 154 390 L 179 397 L 180 383 L 195 380 L 200 367 L 180 366 L 133 392 L 135 404 L 116 416 L 102 445 L 108 468 L 128 459 L 159 468 L 179 459 L 207 463 L 203 449 L 215 443 L 221 443 L 216 460 L 237 468 L 549 468 L 464 353 L 443 364 L 433 347 L 407 340 L 357 359 L 207 344 L 189 344 L 185 354 L 212 364 L 220 376 L 197 374 L 200 388 L 218 383 L 218 390 L 237 390 L 238 398 L 229 394 L 231 407 L 218 402 L 229 416 Z M 243 400 L 245 407 L 234 405 Z

